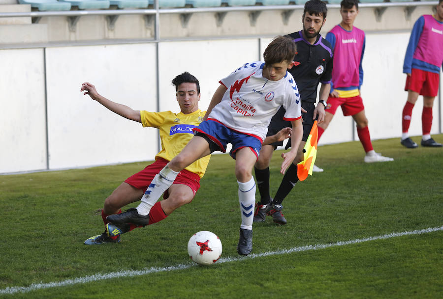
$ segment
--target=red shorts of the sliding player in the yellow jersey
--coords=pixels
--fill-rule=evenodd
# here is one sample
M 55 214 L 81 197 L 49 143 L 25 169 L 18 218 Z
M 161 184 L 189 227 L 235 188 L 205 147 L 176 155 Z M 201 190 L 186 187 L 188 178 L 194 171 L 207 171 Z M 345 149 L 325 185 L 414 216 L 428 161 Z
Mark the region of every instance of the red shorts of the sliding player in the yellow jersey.
M 136 174 L 128 177 L 125 180 L 125 183 L 144 191 L 148 189 L 149 184 L 152 182 L 156 174 L 158 174 L 168 162 L 169 161 L 159 158 L 156 162 L 146 166 L 145 169 L 143 169 L 142 171 L 139 171 Z M 189 186 L 195 195 L 197 190 L 200 188 L 200 177 L 197 174 L 190 172 L 189 170 L 183 169 L 177 175 L 177 178 L 175 179 L 173 184 L 182 184 Z M 168 194 L 166 193 L 167 190 L 165 192 L 165 195 L 163 195 L 164 198 L 167 198 L 168 196 Z

